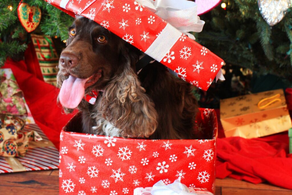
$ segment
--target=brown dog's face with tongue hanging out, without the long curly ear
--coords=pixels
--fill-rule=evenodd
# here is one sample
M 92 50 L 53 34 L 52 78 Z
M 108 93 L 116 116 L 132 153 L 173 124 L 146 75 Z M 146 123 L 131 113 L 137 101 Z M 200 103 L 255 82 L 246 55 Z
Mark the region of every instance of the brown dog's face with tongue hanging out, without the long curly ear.
M 92 20 L 79 16 L 69 27 L 67 47 L 59 61 L 59 100 L 66 108 L 76 108 L 85 93 L 103 90 L 122 71 L 128 48 L 115 34 Z

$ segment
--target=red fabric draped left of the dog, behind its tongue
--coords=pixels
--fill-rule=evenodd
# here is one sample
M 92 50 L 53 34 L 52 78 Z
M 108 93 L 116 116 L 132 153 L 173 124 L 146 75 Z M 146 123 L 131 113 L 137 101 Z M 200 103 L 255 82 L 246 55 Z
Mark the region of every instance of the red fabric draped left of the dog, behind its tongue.
M 73 114 L 62 114 L 57 105 L 59 90 L 27 72 L 24 61 L 6 61 L 3 68 L 11 68 L 36 123 L 46 136 L 59 148 L 60 131 Z

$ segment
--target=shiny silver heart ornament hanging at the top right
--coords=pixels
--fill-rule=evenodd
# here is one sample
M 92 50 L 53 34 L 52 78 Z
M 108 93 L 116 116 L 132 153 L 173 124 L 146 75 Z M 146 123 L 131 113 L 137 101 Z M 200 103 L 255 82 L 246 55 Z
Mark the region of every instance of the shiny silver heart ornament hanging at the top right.
M 279 23 L 291 5 L 291 0 L 258 0 L 260 13 L 270 26 Z

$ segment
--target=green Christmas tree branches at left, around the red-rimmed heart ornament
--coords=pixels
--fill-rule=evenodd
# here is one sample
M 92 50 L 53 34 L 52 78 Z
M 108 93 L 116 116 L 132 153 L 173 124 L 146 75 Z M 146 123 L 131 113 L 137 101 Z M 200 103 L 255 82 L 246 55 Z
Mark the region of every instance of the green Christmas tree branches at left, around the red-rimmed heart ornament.
M 20 59 L 29 42 L 29 33 L 18 19 L 19 3 L 20 0 L 1 0 L 0 3 L 0 66 L 7 57 Z M 44 0 L 23 0 L 22 3 L 39 7 L 41 10 L 40 24 L 33 33 L 60 37 L 61 40 L 68 38 L 67 30 L 74 18 Z

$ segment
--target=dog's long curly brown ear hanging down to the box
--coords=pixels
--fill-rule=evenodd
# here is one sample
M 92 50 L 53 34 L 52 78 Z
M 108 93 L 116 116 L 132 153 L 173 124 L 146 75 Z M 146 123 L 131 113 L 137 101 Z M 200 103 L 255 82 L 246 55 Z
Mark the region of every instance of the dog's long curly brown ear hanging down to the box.
M 99 106 L 123 137 L 149 137 L 157 127 L 157 112 L 131 67 L 135 57 L 128 49 L 121 48 L 120 71 L 105 87 Z

